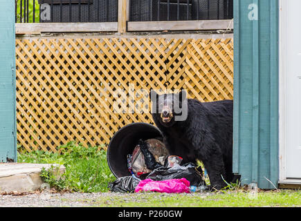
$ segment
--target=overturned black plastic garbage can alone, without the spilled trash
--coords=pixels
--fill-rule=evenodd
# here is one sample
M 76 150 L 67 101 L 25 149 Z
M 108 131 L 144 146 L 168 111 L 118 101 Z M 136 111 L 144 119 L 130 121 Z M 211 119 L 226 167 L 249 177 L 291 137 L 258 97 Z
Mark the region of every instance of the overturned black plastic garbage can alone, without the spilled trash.
M 107 162 L 113 175 L 131 175 L 127 169 L 127 155 L 134 151 L 138 140 L 152 138 L 162 140 L 161 132 L 152 124 L 133 123 L 120 128 L 111 138 L 107 149 Z

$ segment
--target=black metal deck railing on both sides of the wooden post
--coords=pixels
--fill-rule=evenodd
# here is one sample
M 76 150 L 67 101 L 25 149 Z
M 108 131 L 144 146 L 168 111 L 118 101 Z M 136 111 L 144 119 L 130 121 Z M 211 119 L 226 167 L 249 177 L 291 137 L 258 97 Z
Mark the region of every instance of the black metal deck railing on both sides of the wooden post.
M 129 21 L 233 18 L 233 0 L 129 0 Z M 16 22 L 118 21 L 118 0 L 15 0 Z

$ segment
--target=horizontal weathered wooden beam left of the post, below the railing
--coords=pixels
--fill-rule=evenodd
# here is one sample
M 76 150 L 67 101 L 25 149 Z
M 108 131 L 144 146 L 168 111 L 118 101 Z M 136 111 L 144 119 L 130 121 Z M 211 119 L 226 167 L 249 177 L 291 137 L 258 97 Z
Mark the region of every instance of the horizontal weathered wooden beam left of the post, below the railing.
M 95 23 L 16 23 L 16 34 L 40 34 L 42 32 L 117 32 L 117 22 Z

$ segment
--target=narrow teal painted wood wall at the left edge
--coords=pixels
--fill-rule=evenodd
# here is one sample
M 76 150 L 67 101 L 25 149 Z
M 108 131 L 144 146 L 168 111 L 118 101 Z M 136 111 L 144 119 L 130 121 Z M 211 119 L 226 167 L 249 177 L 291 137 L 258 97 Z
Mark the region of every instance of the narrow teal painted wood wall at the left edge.
M 17 160 L 15 1 L 0 7 L 0 162 Z

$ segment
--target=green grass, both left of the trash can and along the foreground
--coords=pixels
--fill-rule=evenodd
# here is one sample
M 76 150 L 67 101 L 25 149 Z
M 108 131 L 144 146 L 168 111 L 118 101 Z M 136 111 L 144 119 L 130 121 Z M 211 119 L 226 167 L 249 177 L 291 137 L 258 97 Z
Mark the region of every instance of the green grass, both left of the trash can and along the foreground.
M 250 191 L 239 184 L 229 184 L 228 189 L 217 193 L 131 193 L 108 194 L 107 184 L 116 178 L 107 165 L 107 153 L 103 146 L 85 148 L 82 144 L 69 142 L 57 148 L 58 153 L 33 151 L 28 153 L 21 147 L 18 162 L 39 164 L 61 164 L 66 172 L 56 177 L 51 171 L 42 171 L 42 177 L 59 191 L 85 193 L 104 192 L 96 200 L 80 199 L 89 206 L 301 206 L 301 191 Z M 52 170 L 54 170 L 53 168 Z M 68 200 L 68 199 L 66 199 Z

